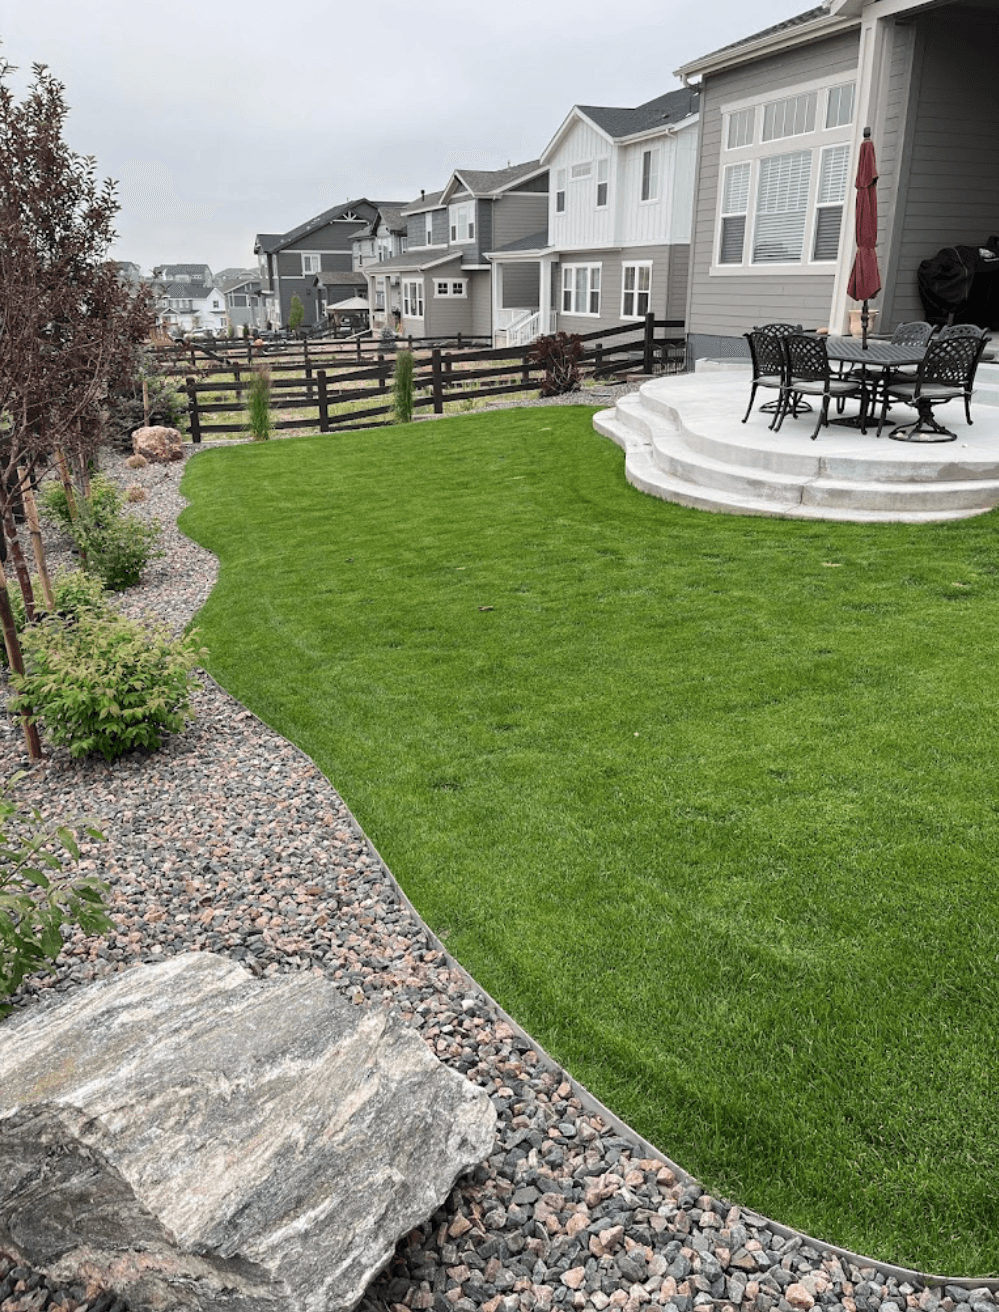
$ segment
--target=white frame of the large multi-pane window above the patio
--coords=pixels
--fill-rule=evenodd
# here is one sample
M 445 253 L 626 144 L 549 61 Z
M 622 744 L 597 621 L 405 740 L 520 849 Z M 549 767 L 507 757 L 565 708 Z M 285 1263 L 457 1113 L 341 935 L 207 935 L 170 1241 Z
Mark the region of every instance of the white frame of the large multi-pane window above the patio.
M 792 87 L 781 88 L 780 92 L 771 91 L 768 94 L 756 94 L 752 97 L 746 97 L 743 100 L 731 101 L 730 104 L 721 105 L 721 113 L 723 115 L 723 130 L 722 130 L 722 143 L 721 143 L 721 156 L 718 168 L 718 194 L 715 198 L 715 222 L 714 222 L 714 236 L 713 236 L 713 252 L 712 252 L 712 265 L 710 277 L 773 277 L 775 270 L 780 272 L 781 277 L 785 276 L 798 276 L 798 274 L 814 274 L 814 273 L 830 273 L 840 256 L 843 255 L 847 230 L 847 210 L 849 207 L 849 188 L 847 186 L 847 195 L 843 201 L 843 223 L 840 227 L 838 252 L 835 258 L 828 256 L 822 260 L 815 258 L 815 240 L 819 224 L 819 210 L 826 209 L 827 205 L 839 205 L 839 201 L 819 201 L 819 188 L 823 172 L 823 160 L 826 159 L 826 152 L 830 147 L 847 146 L 852 147 L 853 140 L 853 126 L 852 119 L 856 114 L 856 105 L 853 106 L 853 113 L 851 114 L 849 123 L 838 123 L 835 127 L 826 127 L 826 122 L 830 117 L 830 97 L 835 92 L 836 96 L 843 94 L 843 88 L 848 87 L 851 83 L 849 76 L 840 73 L 834 77 L 815 79 L 807 83 L 799 83 Z M 807 110 L 807 104 L 805 110 L 797 114 L 790 113 L 785 109 L 780 114 L 772 117 L 772 129 L 780 127 L 782 131 L 785 129 L 793 127 L 796 131 L 788 133 L 781 136 L 772 136 L 771 139 L 763 139 L 764 135 L 764 119 L 765 119 L 765 106 L 776 105 L 785 101 L 793 101 L 796 97 L 806 97 L 809 94 L 815 96 L 815 109 L 814 109 L 814 126 L 810 131 L 797 131 L 810 119 L 810 110 Z M 856 93 L 855 93 L 856 98 Z M 747 131 L 739 131 L 738 129 L 731 131 L 730 125 L 734 118 L 743 115 L 740 122 L 744 125 L 748 119 L 747 112 L 752 110 L 752 139 L 748 138 Z M 782 122 L 777 122 L 781 119 Z M 835 118 L 834 118 L 835 121 Z M 743 140 L 742 146 L 729 146 L 729 140 Z M 798 258 L 788 261 L 773 261 L 773 260 L 760 260 L 754 257 L 760 252 L 760 243 L 757 241 L 757 227 L 760 220 L 759 214 L 759 198 L 760 198 L 760 182 L 763 161 L 772 156 L 789 156 L 796 154 L 809 154 L 809 185 L 807 197 L 805 202 L 805 222 L 801 241 L 801 253 Z M 853 163 L 851 161 L 848 172 L 852 172 Z M 746 165 L 748 165 L 748 185 L 742 189 L 739 186 L 726 185 L 729 178 L 729 171 L 736 167 L 739 169 L 738 177 L 733 178 L 733 182 L 739 181 L 744 177 Z M 773 174 L 773 167 L 768 167 L 771 174 Z M 793 174 L 793 168 L 789 168 L 789 176 Z M 744 209 L 739 210 L 731 209 L 733 197 L 740 197 L 744 190 Z M 726 209 L 726 195 L 730 202 L 730 207 Z M 768 216 L 769 218 L 769 216 Z M 733 237 L 733 230 L 730 227 L 735 223 L 743 223 L 743 240 L 742 240 L 742 258 L 735 261 L 722 262 L 722 249 L 723 237 L 726 235 L 726 228 L 729 232 L 729 252 L 735 244 Z M 832 220 L 826 220 L 831 223 Z M 778 223 L 769 223 L 771 227 L 780 228 Z M 789 223 L 793 227 L 793 223 Z M 827 227 L 826 237 L 828 239 L 831 228 Z M 828 241 L 826 243 L 828 245 Z

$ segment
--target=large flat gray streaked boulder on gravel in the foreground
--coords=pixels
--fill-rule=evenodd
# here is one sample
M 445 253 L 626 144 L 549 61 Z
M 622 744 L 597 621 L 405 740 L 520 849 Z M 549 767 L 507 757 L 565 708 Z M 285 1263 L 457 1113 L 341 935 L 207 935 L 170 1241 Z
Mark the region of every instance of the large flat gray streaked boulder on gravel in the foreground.
M 391 1013 L 207 953 L 11 1017 L 0 1047 L 0 1249 L 135 1312 L 348 1312 L 495 1136 Z

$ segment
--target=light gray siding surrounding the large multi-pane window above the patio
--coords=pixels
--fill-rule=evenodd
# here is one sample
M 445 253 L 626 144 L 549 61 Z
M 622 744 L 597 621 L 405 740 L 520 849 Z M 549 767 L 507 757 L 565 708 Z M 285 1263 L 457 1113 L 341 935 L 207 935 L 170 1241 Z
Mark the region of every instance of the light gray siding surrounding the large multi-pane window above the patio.
M 742 333 L 755 324 L 786 319 L 807 327 L 827 323 L 832 272 L 782 277 L 775 269 L 772 277 L 710 276 L 722 151 L 721 105 L 742 97 L 777 94 L 797 83 L 849 77 L 856 72 L 859 41 L 857 33 L 845 33 L 705 79 L 687 315 L 694 357 L 715 353 L 717 338 L 734 338 L 738 352 L 744 346 L 739 341 Z M 710 340 L 702 342 L 701 337 Z

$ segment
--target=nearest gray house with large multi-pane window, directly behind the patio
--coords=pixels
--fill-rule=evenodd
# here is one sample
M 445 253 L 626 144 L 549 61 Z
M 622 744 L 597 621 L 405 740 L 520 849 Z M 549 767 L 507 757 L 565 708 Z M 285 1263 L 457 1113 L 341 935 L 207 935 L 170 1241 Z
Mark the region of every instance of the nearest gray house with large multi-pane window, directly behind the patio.
M 924 318 L 920 261 L 999 228 L 990 50 L 995 0 L 824 0 L 679 70 L 701 87 L 694 357 L 742 354 L 742 333 L 772 320 L 845 331 L 868 126 L 880 327 Z

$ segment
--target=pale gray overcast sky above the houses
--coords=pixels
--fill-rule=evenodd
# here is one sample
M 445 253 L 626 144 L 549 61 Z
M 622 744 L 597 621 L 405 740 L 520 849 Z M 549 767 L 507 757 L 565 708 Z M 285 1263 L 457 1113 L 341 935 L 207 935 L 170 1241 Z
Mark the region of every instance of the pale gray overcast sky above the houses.
M 118 258 L 218 272 L 341 201 L 536 159 L 574 104 L 641 105 L 810 3 L 0 0 L 0 55 L 18 93 L 33 63 L 66 84 Z

